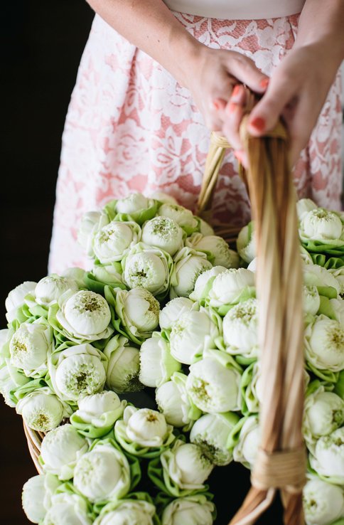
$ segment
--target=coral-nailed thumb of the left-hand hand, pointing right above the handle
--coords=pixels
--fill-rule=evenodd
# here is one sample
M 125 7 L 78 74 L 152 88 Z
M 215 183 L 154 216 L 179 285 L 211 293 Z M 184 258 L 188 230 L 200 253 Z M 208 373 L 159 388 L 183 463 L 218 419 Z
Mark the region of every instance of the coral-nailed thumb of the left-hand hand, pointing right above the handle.
M 269 85 L 269 77 L 264 75 L 254 61 L 242 53 L 229 51 L 228 56 L 228 70 L 231 75 L 234 75 L 237 80 L 246 84 L 252 91 L 257 93 L 264 93 Z

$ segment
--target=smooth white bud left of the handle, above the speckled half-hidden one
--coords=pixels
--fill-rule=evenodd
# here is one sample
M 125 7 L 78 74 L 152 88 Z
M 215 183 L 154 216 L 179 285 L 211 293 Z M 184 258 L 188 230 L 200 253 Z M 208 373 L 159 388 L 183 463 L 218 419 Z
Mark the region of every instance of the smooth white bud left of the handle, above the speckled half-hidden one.
M 235 304 L 242 300 L 242 295 L 247 292 L 247 297 L 252 297 L 254 289 L 254 273 L 244 268 L 230 268 L 215 277 L 213 286 L 208 294 L 209 304 L 220 307 L 224 304 Z

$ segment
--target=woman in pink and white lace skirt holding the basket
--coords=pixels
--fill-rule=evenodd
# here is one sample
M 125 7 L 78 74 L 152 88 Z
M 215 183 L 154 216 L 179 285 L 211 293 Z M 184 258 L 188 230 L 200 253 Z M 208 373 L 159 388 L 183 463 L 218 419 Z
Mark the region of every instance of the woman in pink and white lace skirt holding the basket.
M 78 223 L 110 198 L 165 191 L 194 208 L 210 129 L 233 147 L 215 218 L 247 221 L 242 84 L 262 95 L 252 134 L 284 117 L 299 196 L 340 208 L 341 0 L 88 1 L 97 15 L 63 134 L 50 271 L 87 267 Z

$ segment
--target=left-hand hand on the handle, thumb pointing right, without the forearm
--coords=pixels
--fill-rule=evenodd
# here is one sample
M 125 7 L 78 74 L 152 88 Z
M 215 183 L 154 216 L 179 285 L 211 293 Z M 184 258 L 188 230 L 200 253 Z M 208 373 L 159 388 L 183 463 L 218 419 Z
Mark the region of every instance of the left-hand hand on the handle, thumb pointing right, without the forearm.
M 234 149 L 241 149 L 237 128 L 242 119 L 243 84 L 263 94 L 269 78 L 242 53 L 203 44 L 187 62 L 182 83 L 192 93 L 205 125 L 224 134 Z

